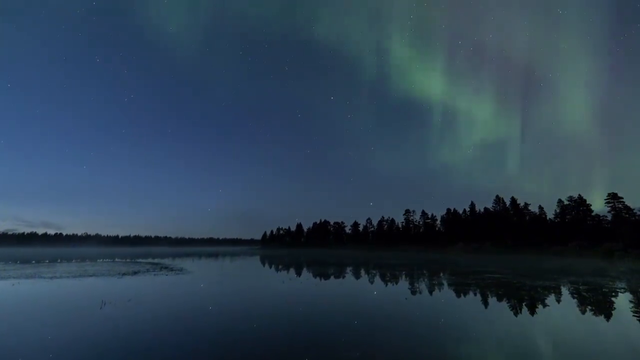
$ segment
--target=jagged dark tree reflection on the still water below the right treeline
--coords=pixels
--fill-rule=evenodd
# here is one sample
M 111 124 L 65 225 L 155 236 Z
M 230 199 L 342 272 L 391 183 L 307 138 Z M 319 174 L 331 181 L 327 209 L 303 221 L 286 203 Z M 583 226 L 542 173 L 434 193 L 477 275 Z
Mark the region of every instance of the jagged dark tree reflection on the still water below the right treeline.
M 276 272 L 293 273 L 301 277 L 305 272 L 318 280 L 365 279 L 385 286 L 406 283 L 411 295 L 433 295 L 445 289 L 457 298 L 479 297 L 484 308 L 489 299 L 504 303 L 516 317 L 523 313 L 535 316 L 549 302 L 560 304 L 563 289 L 581 314 L 602 317 L 607 322 L 613 317 L 615 300 L 628 293 L 633 317 L 640 322 L 640 282 L 626 281 L 626 285 L 613 276 L 590 280 L 584 277 L 557 277 L 535 274 L 516 276 L 500 271 L 464 269 L 445 264 L 393 264 L 373 261 L 340 261 L 331 259 L 300 258 L 293 256 L 260 255 L 260 263 Z

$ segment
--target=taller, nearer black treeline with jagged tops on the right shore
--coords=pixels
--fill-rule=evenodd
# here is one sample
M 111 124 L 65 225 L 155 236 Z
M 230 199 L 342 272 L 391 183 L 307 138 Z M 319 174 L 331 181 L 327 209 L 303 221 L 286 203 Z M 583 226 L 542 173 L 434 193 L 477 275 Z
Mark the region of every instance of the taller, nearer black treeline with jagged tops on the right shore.
M 605 198 L 608 215 L 596 213 L 582 195 L 558 199 L 551 215 L 539 205 L 505 200 L 500 195 L 482 209 L 472 201 L 465 209 L 448 208 L 441 216 L 406 209 L 402 220 L 371 218 L 354 221 L 320 220 L 264 232 L 263 246 L 422 246 L 455 245 L 544 248 L 572 245 L 611 251 L 640 249 L 640 216 L 618 193 Z

